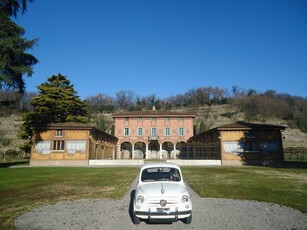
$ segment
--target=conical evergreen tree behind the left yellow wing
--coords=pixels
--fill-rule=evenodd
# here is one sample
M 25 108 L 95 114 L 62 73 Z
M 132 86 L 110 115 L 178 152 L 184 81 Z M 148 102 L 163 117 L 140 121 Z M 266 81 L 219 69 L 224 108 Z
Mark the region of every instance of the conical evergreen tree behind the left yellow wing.
M 21 137 L 31 136 L 31 126 L 51 123 L 87 123 L 86 102 L 82 101 L 73 85 L 63 75 L 53 75 L 37 87 L 39 94 L 30 101 L 34 108 L 23 114 Z

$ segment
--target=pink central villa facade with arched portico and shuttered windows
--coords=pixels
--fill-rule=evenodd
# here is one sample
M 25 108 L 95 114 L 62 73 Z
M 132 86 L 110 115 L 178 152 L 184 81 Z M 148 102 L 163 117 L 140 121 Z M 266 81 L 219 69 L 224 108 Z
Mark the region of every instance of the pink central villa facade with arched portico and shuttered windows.
M 117 159 L 176 159 L 194 135 L 193 114 L 150 110 L 113 114 Z

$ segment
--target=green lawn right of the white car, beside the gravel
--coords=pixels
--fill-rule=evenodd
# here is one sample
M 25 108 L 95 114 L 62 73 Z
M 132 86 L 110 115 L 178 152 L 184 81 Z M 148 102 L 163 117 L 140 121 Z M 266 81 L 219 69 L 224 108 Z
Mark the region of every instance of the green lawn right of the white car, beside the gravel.
M 185 167 L 183 173 L 202 197 L 265 201 L 307 212 L 307 169 Z

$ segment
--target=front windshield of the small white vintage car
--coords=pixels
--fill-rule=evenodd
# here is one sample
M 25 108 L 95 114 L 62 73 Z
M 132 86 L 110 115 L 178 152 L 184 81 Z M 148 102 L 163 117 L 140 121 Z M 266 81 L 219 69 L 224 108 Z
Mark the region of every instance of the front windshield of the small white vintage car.
M 143 182 L 150 181 L 180 181 L 180 173 L 176 168 L 155 167 L 147 168 L 142 171 L 141 180 Z

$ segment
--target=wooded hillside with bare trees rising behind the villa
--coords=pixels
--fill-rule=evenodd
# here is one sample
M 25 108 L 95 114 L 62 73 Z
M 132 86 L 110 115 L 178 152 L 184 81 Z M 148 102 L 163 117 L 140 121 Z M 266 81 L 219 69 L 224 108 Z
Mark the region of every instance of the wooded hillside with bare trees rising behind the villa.
M 31 111 L 29 101 L 33 96 L 0 91 L 0 159 L 7 152 L 23 155 L 19 146 L 24 141 L 18 138 L 21 114 Z M 194 113 L 195 134 L 236 121 L 283 125 L 287 127 L 283 132 L 284 147 L 307 147 L 307 99 L 272 90 L 257 93 L 233 87 L 230 93 L 217 87 L 200 87 L 165 99 L 154 94 L 135 97 L 133 92 L 122 90 L 115 98 L 99 94 L 88 97 L 85 102 L 91 125 L 107 132 L 112 132 L 112 113 L 155 107 Z

